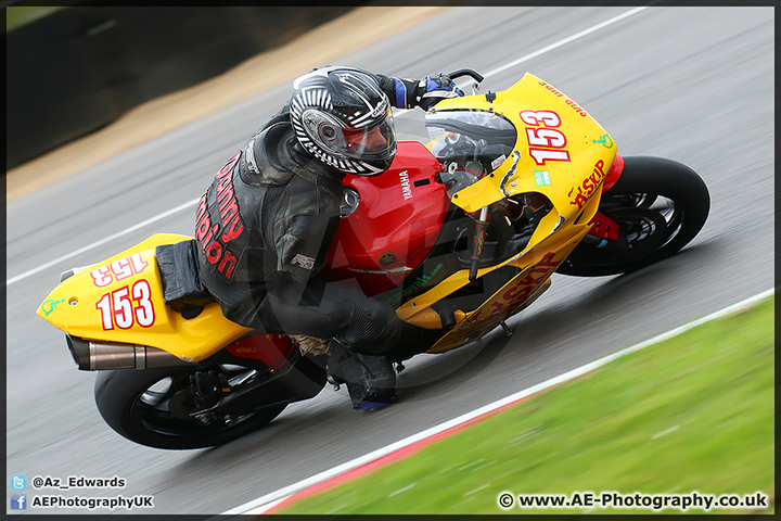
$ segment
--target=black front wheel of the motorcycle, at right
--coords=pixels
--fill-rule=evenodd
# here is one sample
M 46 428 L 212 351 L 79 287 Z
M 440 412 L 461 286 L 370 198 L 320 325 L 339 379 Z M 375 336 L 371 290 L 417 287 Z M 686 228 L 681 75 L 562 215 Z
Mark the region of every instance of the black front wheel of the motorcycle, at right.
M 599 206 L 618 225 L 618 240 L 604 247 L 581 242 L 556 271 L 597 277 L 649 266 L 694 239 L 709 208 L 705 182 L 688 166 L 662 157 L 625 157 L 624 173 Z

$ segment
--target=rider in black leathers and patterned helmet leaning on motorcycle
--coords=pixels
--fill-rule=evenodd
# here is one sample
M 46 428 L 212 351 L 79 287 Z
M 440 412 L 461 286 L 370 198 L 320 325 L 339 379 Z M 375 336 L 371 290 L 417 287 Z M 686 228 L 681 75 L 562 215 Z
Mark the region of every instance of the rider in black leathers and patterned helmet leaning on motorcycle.
M 417 81 L 313 69 L 294 80 L 289 102 L 226 163 L 197 207 L 201 280 L 226 317 L 302 342 L 328 339 L 328 372 L 347 383 L 354 407 L 395 393 L 385 354 L 400 322 L 389 305 L 318 277 L 338 226 L 343 180 L 390 166 L 390 105 L 427 110 L 457 96 L 463 92 L 444 74 Z

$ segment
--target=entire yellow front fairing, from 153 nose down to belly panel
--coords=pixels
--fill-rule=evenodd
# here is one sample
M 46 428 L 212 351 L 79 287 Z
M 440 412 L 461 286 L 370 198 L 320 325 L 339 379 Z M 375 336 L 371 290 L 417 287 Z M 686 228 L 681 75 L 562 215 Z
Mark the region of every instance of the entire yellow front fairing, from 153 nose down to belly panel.
M 492 112 L 517 129 L 517 164 L 508 157 L 492 173 L 453 194 L 453 204 L 477 212 L 505 196 L 537 192 L 546 195 L 554 209 L 540 221 L 524 251 L 478 270 L 477 277 L 507 265 L 522 271 L 478 308 L 456 312 L 456 327 L 430 353 L 447 351 L 490 331 L 548 288 L 555 267 L 591 229 L 589 221 L 599 207 L 603 180 L 616 156 L 610 135 L 585 110 L 532 74 L 495 98 L 481 94 L 449 99 L 434 110 Z M 458 271 L 406 302 L 396 314 L 415 326 L 441 329 L 440 317 L 431 305 L 468 283 L 469 270 Z

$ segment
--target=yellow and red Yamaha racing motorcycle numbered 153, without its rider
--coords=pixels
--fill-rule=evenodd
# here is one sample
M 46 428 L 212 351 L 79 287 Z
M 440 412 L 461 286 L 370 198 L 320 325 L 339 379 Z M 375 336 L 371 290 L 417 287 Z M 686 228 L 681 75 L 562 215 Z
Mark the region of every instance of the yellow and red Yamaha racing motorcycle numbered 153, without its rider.
M 585 109 L 542 79 L 526 74 L 483 94 L 478 73 L 450 76 L 471 76 L 474 91 L 426 113 L 427 144 L 400 141 L 387 171 L 345 179 L 322 271 L 395 306 L 397 370 L 496 328 L 510 334 L 507 320 L 554 272 L 617 275 L 674 254 L 709 209 L 691 168 L 622 157 Z M 303 353 L 293 338 L 239 326 L 215 302 L 167 298 L 182 281 L 169 269 L 179 257 L 162 254 L 187 243 L 154 234 L 71 269 L 38 308 L 65 331 L 78 368 L 100 371 L 103 419 L 151 447 L 226 443 L 327 383 L 327 356 Z

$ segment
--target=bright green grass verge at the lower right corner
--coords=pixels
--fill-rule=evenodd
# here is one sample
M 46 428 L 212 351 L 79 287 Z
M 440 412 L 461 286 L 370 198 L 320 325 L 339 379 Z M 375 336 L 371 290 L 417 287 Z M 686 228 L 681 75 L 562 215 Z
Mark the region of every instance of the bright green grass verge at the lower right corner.
M 761 491 L 773 512 L 773 303 L 622 357 L 281 513 L 652 512 L 497 504 L 503 492 L 587 491 Z

